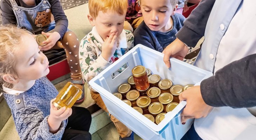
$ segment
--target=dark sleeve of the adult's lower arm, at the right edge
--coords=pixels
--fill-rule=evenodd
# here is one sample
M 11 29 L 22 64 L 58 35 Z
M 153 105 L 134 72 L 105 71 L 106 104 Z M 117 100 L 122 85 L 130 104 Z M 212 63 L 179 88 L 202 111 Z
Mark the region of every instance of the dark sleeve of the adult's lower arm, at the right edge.
M 234 61 L 201 82 L 204 102 L 233 108 L 256 106 L 256 54 Z

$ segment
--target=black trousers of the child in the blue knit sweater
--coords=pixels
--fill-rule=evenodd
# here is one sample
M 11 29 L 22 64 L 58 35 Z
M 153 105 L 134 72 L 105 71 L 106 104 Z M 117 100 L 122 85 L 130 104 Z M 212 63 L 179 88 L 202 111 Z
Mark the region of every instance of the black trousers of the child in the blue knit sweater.
M 92 116 L 86 108 L 73 106 L 61 140 L 92 140 L 89 133 L 91 122 Z

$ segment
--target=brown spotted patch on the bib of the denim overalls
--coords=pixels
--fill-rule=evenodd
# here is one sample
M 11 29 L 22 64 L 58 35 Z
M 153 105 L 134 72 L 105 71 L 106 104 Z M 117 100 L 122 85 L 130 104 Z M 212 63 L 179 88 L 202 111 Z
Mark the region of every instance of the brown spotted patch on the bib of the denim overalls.
M 54 18 L 50 9 L 46 9 L 42 12 L 36 13 L 36 18 L 35 18 L 36 27 L 39 27 L 39 28 L 45 27 L 53 21 L 54 21 Z

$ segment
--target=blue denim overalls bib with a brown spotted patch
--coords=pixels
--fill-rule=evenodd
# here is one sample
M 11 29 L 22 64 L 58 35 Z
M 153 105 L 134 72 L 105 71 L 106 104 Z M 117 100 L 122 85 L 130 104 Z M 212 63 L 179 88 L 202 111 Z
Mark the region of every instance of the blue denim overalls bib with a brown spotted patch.
M 55 27 L 55 21 L 51 12 L 50 3 L 42 0 L 33 8 L 18 6 L 15 0 L 9 0 L 17 19 L 17 26 L 25 28 L 34 34 L 48 32 Z

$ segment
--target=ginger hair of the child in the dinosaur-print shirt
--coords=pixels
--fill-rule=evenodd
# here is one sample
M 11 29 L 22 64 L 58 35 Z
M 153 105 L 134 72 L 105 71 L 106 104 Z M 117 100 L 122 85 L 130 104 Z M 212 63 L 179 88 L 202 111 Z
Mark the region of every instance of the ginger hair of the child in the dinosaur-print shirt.
M 126 14 L 128 8 L 127 0 L 89 0 L 89 14 L 95 19 L 102 11 L 106 13 L 108 10 L 117 12 L 120 15 Z

